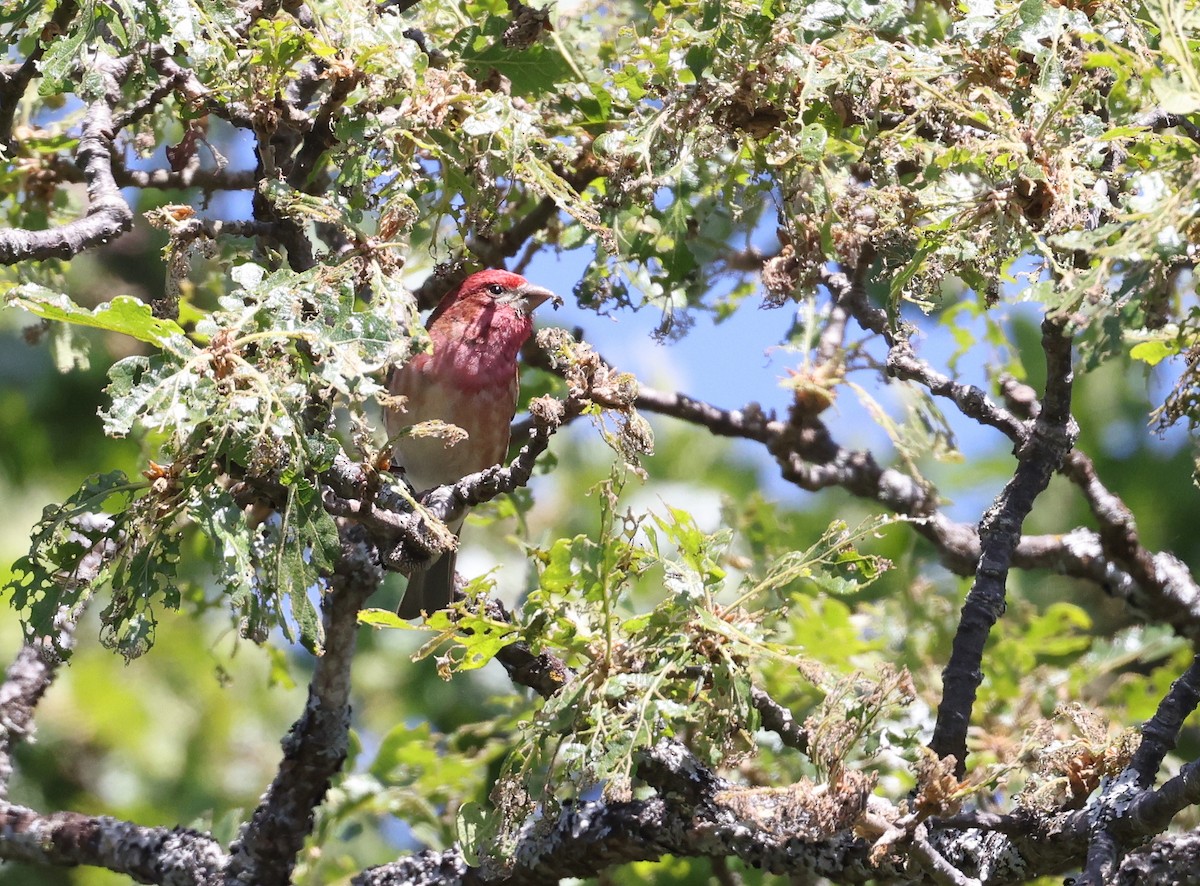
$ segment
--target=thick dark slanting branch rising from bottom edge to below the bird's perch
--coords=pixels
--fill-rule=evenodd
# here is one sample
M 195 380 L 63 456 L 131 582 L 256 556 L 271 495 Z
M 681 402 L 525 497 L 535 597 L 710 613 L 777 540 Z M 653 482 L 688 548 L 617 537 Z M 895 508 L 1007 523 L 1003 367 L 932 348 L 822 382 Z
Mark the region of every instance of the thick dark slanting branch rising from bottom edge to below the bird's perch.
M 283 761 L 250 822 L 230 848 L 230 882 L 286 886 L 296 855 L 349 747 L 350 664 L 358 613 L 383 574 L 359 527 L 342 531 L 342 555 L 322 598 L 325 651 L 317 659 L 308 704 L 283 740 Z

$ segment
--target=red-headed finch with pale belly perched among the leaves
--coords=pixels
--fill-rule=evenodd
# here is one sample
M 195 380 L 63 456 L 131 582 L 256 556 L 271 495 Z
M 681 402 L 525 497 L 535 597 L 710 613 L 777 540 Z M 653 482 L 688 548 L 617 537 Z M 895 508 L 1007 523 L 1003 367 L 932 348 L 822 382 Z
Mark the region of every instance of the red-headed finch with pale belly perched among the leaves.
M 517 408 L 517 353 L 533 333 L 538 305 L 562 299 L 520 274 L 482 270 L 442 299 L 426 329 L 433 352 L 416 354 L 391 376 L 402 406 L 388 411 L 392 437 L 419 421 L 442 420 L 467 432 L 454 445 L 438 437 L 406 436 L 396 442 L 394 465 L 418 493 L 455 483 L 499 463 L 509 449 L 509 425 Z M 460 519 L 450 528 L 457 534 Z M 450 604 L 456 552 L 414 573 L 397 613 L 415 618 Z

